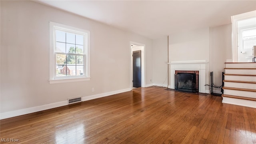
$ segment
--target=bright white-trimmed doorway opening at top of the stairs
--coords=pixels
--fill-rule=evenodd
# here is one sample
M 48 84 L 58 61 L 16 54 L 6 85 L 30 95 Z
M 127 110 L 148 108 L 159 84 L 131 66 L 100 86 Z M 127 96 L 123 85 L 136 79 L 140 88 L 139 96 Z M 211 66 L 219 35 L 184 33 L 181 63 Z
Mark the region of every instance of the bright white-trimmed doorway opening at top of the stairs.
M 256 47 L 256 10 L 231 16 L 232 62 L 252 62 Z

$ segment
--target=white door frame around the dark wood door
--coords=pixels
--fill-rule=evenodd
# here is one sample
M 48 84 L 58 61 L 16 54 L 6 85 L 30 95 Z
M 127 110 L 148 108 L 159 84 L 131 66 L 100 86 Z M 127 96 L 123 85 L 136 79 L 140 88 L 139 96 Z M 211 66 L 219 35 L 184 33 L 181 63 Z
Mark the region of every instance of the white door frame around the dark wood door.
M 140 46 L 136 49 L 133 49 L 131 46 L 136 45 Z M 130 88 L 132 88 L 132 78 L 133 78 L 133 68 L 132 68 L 132 52 L 136 50 L 141 50 L 141 87 L 146 87 L 146 78 L 145 78 L 145 44 L 140 44 L 138 42 L 132 42 L 130 41 Z

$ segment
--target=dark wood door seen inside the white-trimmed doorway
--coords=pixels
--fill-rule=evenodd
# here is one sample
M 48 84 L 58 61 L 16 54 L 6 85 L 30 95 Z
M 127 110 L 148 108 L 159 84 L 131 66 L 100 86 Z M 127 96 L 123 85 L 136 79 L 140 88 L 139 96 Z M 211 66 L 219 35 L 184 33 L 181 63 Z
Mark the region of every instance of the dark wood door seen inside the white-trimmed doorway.
M 133 80 L 132 85 L 134 88 L 141 87 L 141 50 L 132 52 L 132 67 L 133 67 Z

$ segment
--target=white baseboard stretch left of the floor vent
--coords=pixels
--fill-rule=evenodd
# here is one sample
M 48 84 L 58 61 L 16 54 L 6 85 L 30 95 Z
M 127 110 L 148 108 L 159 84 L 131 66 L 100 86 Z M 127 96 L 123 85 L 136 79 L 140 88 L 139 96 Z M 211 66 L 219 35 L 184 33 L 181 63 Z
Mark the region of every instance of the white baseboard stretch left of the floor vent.
M 30 114 L 30 113 L 33 113 L 33 112 L 39 112 L 39 111 L 42 111 L 42 110 L 48 110 L 48 109 L 51 109 L 51 108 L 57 108 L 57 107 L 60 107 L 60 106 L 66 106 L 66 105 L 68 105 L 68 100 L 65 100 L 65 101 L 62 101 L 62 102 L 55 102 L 55 103 L 52 103 L 52 104 L 45 104 L 45 105 L 42 105 L 42 106 L 35 106 L 35 107 L 32 107 L 32 108 L 24 108 L 24 109 L 21 109 L 21 110 L 14 110 L 14 111 L 11 111 L 11 112 L 4 112 L 4 113 L 0 114 L 0 120 L 5 119 L 5 118 L 11 118 L 11 117 L 14 117 L 14 116 L 21 116 L 21 115 L 24 115 L 24 114 Z

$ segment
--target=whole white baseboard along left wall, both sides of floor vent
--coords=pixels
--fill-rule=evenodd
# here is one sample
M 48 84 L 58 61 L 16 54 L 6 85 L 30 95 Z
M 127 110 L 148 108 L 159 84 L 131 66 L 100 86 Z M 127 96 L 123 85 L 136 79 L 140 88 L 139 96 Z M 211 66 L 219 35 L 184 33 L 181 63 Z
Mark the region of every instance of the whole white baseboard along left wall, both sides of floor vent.
M 95 99 L 95 98 L 101 98 L 101 97 L 105 97 L 105 96 L 110 96 L 110 95 L 113 95 L 113 94 L 119 94 L 119 93 L 122 93 L 122 92 L 128 92 L 132 90 L 131 88 L 126 88 L 126 89 L 123 89 L 123 90 L 116 90 L 116 91 L 112 91 L 112 92 L 106 92 L 106 93 L 103 93 L 103 94 L 96 94 L 96 95 L 92 95 L 92 96 L 84 96 L 82 97 L 82 101 L 86 101 L 86 100 L 92 100 L 92 99 Z M 60 106 L 66 106 L 68 105 L 68 100 L 65 100 L 65 101 L 62 101 L 62 102 L 55 102 L 55 103 L 52 103 L 52 104 L 45 104 L 45 105 L 42 105 L 42 106 L 35 106 L 35 107 L 32 107 L 32 108 L 24 108 L 24 109 L 21 109 L 21 110 L 14 110 L 14 111 L 11 111 L 11 112 L 4 112 L 4 113 L 0 113 L 0 120 L 2 119 L 6 119 L 6 118 L 12 118 L 14 116 L 21 116 L 21 115 L 24 115 L 24 114 L 30 114 L 30 113 L 33 113 L 33 112 L 39 112 L 39 111 L 42 111 L 42 110 L 48 110 L 48 109 L 51 109 L 51 108 L 57 108 L 57 107 L 60 107 Z

